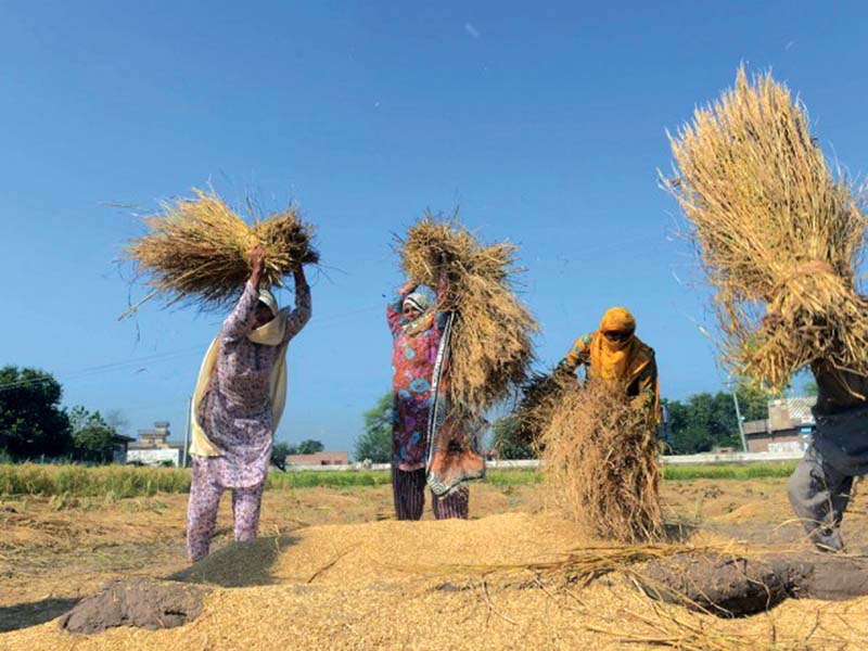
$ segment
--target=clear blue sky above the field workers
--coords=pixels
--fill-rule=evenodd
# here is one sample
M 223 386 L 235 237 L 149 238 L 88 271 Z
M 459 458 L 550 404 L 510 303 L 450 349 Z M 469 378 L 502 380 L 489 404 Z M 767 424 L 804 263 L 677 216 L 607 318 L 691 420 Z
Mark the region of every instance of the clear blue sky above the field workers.
M 865 171 L 868 8 L 603 4 L 0 2 L 0 363 L 181 434 L 221 319 L 151 304 L 118 322 L 113 259 L 141 227 L 101 202 L 152 210 L 210 181 L 230 202 L 292 196 L 318 226 L 328 268 L 290 348 L 281 439 L 352 449 L 390 384 L 392 233 L 426 208 L 521 245 L 544 363 L 623 304 L 665 396 L 716 391 L 706 298 L 656 186 L 665 129 L 743 61 Z

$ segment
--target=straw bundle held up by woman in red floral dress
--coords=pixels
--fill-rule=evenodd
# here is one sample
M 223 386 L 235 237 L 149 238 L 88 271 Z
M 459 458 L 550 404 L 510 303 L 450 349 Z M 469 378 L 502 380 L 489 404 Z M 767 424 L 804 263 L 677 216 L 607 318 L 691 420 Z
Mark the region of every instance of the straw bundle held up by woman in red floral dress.
M 448 279 L 438 309 L 457 314 L 450 343 L 452 401 L 482 413 L 524 381 L 537 324 L 519 301 L 510 280 L 516 247 L 482 245 L 470 231 L 430 215 L 399 242 L 408 278 L 431 288 Z

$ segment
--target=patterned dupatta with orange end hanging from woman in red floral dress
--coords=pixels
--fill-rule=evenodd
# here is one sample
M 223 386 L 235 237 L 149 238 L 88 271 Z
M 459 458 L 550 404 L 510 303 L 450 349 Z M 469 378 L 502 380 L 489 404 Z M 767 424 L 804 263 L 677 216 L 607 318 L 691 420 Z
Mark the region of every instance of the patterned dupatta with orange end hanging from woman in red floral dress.
M 455 312 L 447 316 L 431 378 L 431 413 L 427 424 L 427 484 L 444 497 L 465 482 L 485 478 L 485 460 L 478 455 L 485 420 L 470 413 L 449 397 L 449 356 Z

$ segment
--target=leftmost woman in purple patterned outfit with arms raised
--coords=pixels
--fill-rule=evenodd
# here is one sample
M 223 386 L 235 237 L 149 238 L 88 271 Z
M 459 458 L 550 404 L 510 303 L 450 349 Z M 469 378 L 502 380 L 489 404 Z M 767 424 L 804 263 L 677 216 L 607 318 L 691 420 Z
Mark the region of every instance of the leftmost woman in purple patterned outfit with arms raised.
M 263 250 L 235 309 L 200 372 L 193 404 L 192 484 L 187 514 L 191 561 L 208 554 L 224 489 L 232 490 L 235 540 L 256 538 L 271 443 L 285 401 L 285 354 L 310 319 L 310 289 L 295 272 L 295 309 L 260 291 Z

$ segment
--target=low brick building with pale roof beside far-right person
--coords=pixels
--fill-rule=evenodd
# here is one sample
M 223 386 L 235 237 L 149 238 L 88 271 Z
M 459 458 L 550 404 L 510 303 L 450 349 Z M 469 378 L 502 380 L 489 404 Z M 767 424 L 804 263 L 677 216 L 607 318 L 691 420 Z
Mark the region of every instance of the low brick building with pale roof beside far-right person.
M 768 419 L 743 423 L 749 452 L 800 452 L 807 448 L 816 423 L 810 409 L 816 397 L 768 403 Z

